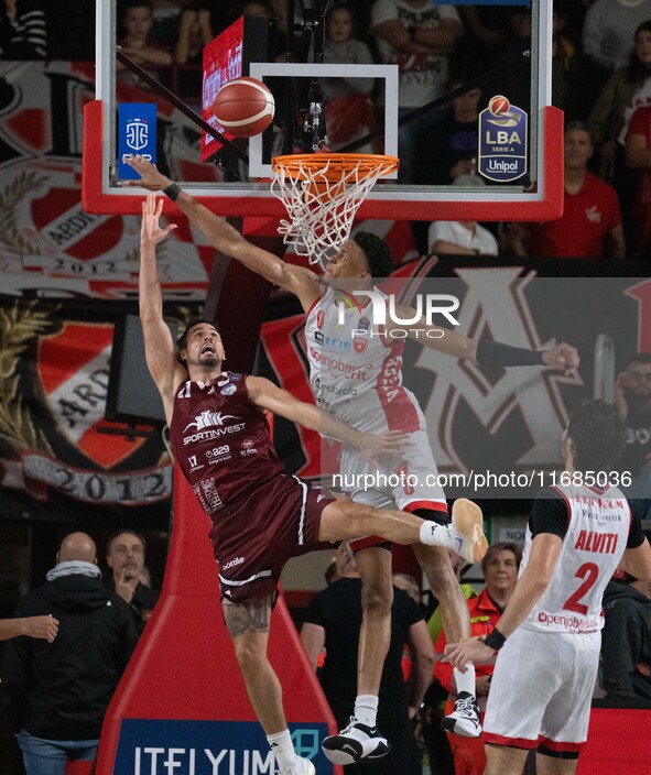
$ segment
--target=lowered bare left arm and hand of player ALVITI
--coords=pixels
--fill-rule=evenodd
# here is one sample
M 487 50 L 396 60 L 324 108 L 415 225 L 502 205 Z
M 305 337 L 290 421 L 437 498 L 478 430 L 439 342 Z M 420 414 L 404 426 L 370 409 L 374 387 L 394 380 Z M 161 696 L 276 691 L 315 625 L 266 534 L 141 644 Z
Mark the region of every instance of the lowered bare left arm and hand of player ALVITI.
M 518 579 L 507 608 L 495 627 L 496 634 L 499 633 L 503 638 L 509 637 L 531 613 L 550 585 L 562 545 L 563 539 L 553 533 L 539 533 L 534 537 L 527 568 Z M 491 635 L 488 636 L 489 643 Z M 492 645 L 468 638 L 460 643 L 448 643 L 445 646 L 445 656 L 465 673 L 467 663 L 486 664 L 491 659 L 493 651 Z

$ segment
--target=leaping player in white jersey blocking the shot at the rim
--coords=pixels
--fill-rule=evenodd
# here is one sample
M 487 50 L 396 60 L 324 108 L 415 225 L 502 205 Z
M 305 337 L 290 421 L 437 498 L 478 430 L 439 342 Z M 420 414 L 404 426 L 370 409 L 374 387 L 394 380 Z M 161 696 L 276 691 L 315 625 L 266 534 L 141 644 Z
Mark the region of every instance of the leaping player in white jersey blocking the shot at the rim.
M 436 465 L 427 441 L 425 419 L 414 395 L 402 385 L 402 340 L 369 336 L 361 352 L 352 346 L 344 351 L 336 343 L 332 345 L 333 340 L 340 337 L 338 305 L 332 288 L 323 294 L 324 285 L 314 272 L 307 268 L 285 264 L 276 255 L 251 244 L 224 218 L 215 216 L 199 205 L 142 156 L 133 156 L 127 161 L 142 179 L 130 181 L 126 185 L 163 190 L 217 250 L 297 296 L 307 314 L 310 381 L 319 406 L 360 430 L 379 433 L 383 428 L 408 433 L 409 446 L 402 458 L 386 469 L 387 473 L 402 470 L 419 477 L 421 481 L 423 474 L 435 473 Z M 346 242 L 339 253 L 329 261 L 325 280 L 333 286 L 336 286 L 339 280 L 368 281 L 370 288 L 371 277 L 387 276 L 392 269 L 389 247 L 375 234 L 360 232 Z M 413 317 L 413 310 L 402 308 L 398 313 L 401 319 Z M 355 328 L 369 324 L 364 312 L 360 313 L 356 308 L 345 314 L 347 323 L 354 321 Z M 343 328 L 348 330 L 348 326 Z M 424 320 L 419 323 L 417 328 L 421 331 L 440 330 L 427 326 Z M 386 329 L 390 329 L 390 324 Z M 456 358 L 473 360 L 480 365 L 547 365 L 562 369 L 565 373 L 571 373 L 578 365 L 575 348 L 565 343 L 544 352 L 532 352 L 498 342 L 477 342 L 452 330 L 446 330 L 442 338 L 422 336 L 416 340 L 425 347 Z M 341 471 L 346 474 L 372 472 L 355 454 L 344 455 Z M 424 520 L 442 524 L 447 521 L 447 504 L 441 488 L 423 484 L 411 492 L 402 485 L 384 489 L 359 488 L 347 494 L 356 502 L 368 505 L 381 509 L 398 506 Z M 382 545 L 382 542 L 375 537 L 354 542 L 352 547 L 364 585 L 359 647 L 364 659 L 360 659 L 359 665 L 354 720 L 341 734 L 324 741 L 324 752 L 335 764 L 379 758 L 389 750 L 386 739 L 376 728 L 376 717 L 382 665 L 391 635 L 391 553 L 386 544 Z M 415 555 L 441 604 L 448 641 L 459 641 L 468 636 L 468 609 L 447 552 L 436 548 L 430 550 L 430 547 L 422 550 L 419 547 Z M 455 679 L 458 690 L 457 707 L 444 719 L 444 728 L 457 734 L 478 736 L 481 728 L 475 701 L 474 669 L 468 669 L 465 674 L 455 670 Z

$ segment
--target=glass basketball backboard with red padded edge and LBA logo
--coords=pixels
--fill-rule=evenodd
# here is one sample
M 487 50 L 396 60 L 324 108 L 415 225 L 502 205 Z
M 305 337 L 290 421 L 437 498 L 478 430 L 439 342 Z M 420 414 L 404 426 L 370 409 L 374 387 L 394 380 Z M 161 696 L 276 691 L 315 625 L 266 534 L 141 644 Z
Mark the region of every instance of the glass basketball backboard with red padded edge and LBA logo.
M 409 26 L 411 23 L 424 30 L 452 25 L 458 31 L 466 22 L 467 30 L 464 3 L 422 0 L 420 7 L 419 2 L 412 4 L 419 13 L 426 11 L 426 19 L 417 15 L 415 21 L 404 22 L 404 29 L 416 41 L 420 39 Z M 322 4 L 313 1 L 315 7 Z M 159 167 L 218 215 L 285 215 L 282 204 L 270 194 L 271 159 L 292 152 L 297 145 L 311 144 L 315 133 L 313 124 L 306 130 L 306 123 L 314 121 L 311 106 L 315 102 L 323 113 L 318 122 L 323 128 L 325 119 L 324 133 L 333 151 L 401 157 L 398 177 L 378 183 L 358 217 L 545 220 L 562 212 L 563 118 L 560 110 L 551 107 L 549 2 L 476 3 L 474 8 L 479 8 L 509 42 L 497 51 L 478 53 L 466 34 L 455 37 L 456 54 L 426 56 L 409 54 L 409 46 L 406 54 L 388 52 L 387 42 L 371 34 L 386 24 L 371 9 L 366 19 L 358 21 L 360 29 L 369 31 L 366 40 L 375 51 L 376 63 L 382 64 L 279 63 L 273 48 L 265 57 L 259 57 L 269 61 L 250 61 L 256 57 L 246 51 L 246 41 L 241 35 L 234 39 L 231 30 L 230 42 L 221 46 L 224 66 L 218 77 L 229 79 L 243 68 L 243 75 L 259 78 L 271 88 L 278 110 L 274 127 L 250 141 L 237 141 L 235 153 L 218 154 L 218 164 L 215 154 L 200 161 L 200 130 L 189 112 L 183 114 L 131 73 L 126 79 L 124 70 L 118 70 L 121 65 L 116 58 L 116 44 L 122 32 L 117 6 L 117 0 L 97 2 L 97 99 L 86 107 L 84 145 L 84 207 L 90 212 L 140 212 L 142 192 L 121 185 L 119 161 L 123 149 L 118 127 L 120 111 L 126 114 L 131 106 L 148 102 L 156 106 L 153 110 L 159 139 L 153 144 L 153 155 Z M 293 2 L 287 6 L 294 8 Z M 295 19 L 296 30 L 301 24 L 305 29 L 306 23 L 316 33 L 319 25 L 314 18 L 312 13 L 306 22 Z M 226 35 L 224 31 L 216 32 Z M 427 40 L 427 34 L 423 40 Z M 313 52 L 316 37 L 314 34 L 308 46 L 303 35 L 305 52 Z M 338 50 L 334 46 L 330 51 Z M 326 47 L 326 58 L 327 54 Z M 153 75 L 183 102 L 196 102 L 196 111 L 202 112 L 198 94 L 194 99 L 181 94 L 183 69 L 159 68 Z M 457 98 L 454 112 L 451 94 Z M 473 100 L 475 117 L 468 121 L 468 101 Z M 434 106 L 427 108 L 432 102 Z M 475 109 L 473 105 L 470 108 Z M 415 119 L 405 116 L 414 110 L 421 113 Z M 456 123 L 453 121 L 455 116 L 463 117 L 463 127 L 458 118 Z M 204 118 L 209 118 L 209 106 L 204 106 Z M 437 120 L 432 121 L 433 118 Z M 421 131 L 412 131 L 419 123 Z M 452 131 L 455 138 L 451 144 Z M 453 172 L 459 159 L 470 164 L 469 174 L 458 174 L 467 164 Z M 165 211 L 173 209 L 172 203 L 165 200 Z

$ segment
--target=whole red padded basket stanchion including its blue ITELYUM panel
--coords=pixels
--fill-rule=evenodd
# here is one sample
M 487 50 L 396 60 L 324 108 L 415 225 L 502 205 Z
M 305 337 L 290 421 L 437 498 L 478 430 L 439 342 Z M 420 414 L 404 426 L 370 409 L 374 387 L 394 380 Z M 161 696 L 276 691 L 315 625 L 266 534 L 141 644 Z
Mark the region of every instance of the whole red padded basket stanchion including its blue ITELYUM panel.
M 178 470 L 161 599 L 107 711 L 97 775 L 271 775 L 271 754 L 224 625 L 208 517 Z M 300 755 L 333 767 L 319 741 L 336 731 L 286 607 L 272 618 L 270 658 Z

